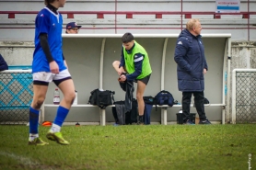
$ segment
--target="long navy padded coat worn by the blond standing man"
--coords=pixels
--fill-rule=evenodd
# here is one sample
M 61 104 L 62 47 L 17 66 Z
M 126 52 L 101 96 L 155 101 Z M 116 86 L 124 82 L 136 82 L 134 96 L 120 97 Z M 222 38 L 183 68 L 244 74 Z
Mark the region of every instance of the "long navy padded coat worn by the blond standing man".
M 208 70 L 201 35 L 193 36 L 183 29 L 176 42 L 178 87 L 181 92 L 204 91 L 204 68 Z

